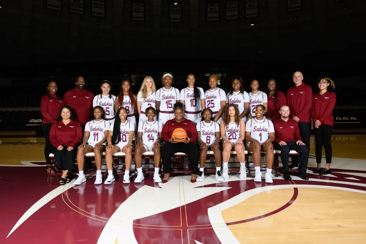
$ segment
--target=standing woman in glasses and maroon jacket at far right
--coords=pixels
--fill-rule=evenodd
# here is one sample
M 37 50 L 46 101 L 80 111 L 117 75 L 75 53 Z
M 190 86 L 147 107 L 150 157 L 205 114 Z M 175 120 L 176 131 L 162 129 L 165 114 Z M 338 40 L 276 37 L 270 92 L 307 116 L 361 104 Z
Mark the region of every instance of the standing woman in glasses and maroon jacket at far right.
M 330 85 L 330 86 L 329 86 Z M 313 171 L 315 174 L 330 174 L 330 163 L 332 163 L 332 132 L 333 132 L 333 113 L 336 104 L 336 94 L 328 90 L 336 89 L 333 80 L 327 77 L 318 79 L 319 93 L 313 94 L 313 105 L 310 115 L 313 119 L 315 134 L 315 158 L 318 167 Z M 325 150 L 326 166 L 321 167 L 322 148 Z

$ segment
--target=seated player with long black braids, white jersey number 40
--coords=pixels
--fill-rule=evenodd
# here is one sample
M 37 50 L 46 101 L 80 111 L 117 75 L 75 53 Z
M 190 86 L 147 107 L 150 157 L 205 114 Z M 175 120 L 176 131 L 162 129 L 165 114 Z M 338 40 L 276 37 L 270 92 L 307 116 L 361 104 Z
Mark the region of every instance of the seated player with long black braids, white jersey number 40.
M 113 121 L 113 120 L 112 120 Z M 108 177 L 104 184 L 112 184 L 115 181 L 113 176 L 113 154 L 122 151 L 126 154 L 126 170 L 124 171 L 123 183 L 130 183 L 130 166 L 132 162 L 132 152 L 135 147 L 132 145 L 132 140 L 135 134 L 135 124 L 127 120 L 127 109 L 121 107 L 117 110 L 113 124 L 109 127 L 107 142 L 105 148 L 105 162 L 107 164 Z

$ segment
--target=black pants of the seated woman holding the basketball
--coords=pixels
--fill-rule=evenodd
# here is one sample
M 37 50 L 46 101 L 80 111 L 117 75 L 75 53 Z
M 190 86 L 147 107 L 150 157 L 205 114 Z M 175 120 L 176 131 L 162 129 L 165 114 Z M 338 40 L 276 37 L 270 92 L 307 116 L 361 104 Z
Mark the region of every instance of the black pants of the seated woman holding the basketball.
M 196 143 L 171 143 L 165 142 L 161 148 L 161 159 L 163 161 L 163 172 L 169 173 L 172 165 L 172 156 L 175 153 L 185 153 L 188 155 L 189 162 L 191 163 L 192 174 L 197 173 L 197 165 L 199 159 L 199 151 Z

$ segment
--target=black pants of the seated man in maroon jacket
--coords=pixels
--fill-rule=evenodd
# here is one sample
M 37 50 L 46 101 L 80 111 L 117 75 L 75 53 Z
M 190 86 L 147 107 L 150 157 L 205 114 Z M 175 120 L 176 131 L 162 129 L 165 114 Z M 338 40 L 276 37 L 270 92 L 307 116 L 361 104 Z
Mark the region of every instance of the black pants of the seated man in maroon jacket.
M 300 164 L 299 164 L 299 173 L 306 173 L 307 169 L 307 159 L 309 158 L 309 149 L 306 146 L 300 146 L 296 144 L 296 142 L 286 142 L 287 145 L 281 146 L 280 144 L 273 144 L 275 150 L 281 151 L 281 162 L 283 165 L 283 172 L 289 172 L 288 169 L 288 157 L 290 150 L 295 150 L 299 153 L 300 156 Z M 297 156 L 296 156 L 297 157 Z

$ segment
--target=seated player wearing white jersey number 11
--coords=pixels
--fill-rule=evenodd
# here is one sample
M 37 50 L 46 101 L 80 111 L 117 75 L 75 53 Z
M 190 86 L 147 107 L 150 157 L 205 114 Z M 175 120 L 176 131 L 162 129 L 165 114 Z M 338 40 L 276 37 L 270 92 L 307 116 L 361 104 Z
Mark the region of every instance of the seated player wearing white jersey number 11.
M 74 181 L 74 185 L 80 185 L 86 181 L 84 175 L 84 154 L 91 152 L 94 152 L 95 164 L 97 166 L 94 184 L 102 184 L 102 152 L 105 151 L 110 124 L 103 119 L 104 114 L 101 106 L 95 106 L 93 114 L 95 119 L 86 123 L 83 142 L 78 147 L 76 161 L 78 162 L 79 177 Z

